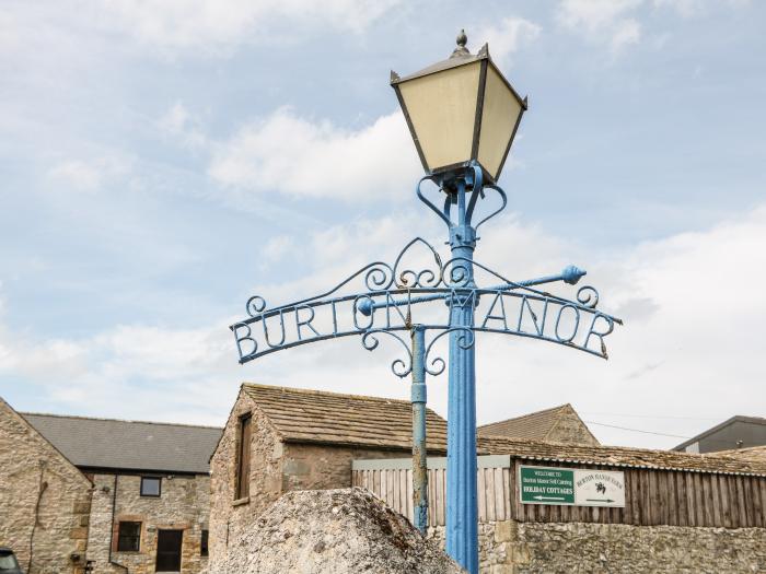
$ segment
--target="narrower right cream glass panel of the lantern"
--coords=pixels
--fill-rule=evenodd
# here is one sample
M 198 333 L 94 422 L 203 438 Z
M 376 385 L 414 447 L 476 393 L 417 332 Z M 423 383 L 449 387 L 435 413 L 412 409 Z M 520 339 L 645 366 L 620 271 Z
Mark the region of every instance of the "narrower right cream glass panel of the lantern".
M 521 103 L 494 66 L 487 67 L 477 160 L 497 180 L 508 142 L 521 114 Z

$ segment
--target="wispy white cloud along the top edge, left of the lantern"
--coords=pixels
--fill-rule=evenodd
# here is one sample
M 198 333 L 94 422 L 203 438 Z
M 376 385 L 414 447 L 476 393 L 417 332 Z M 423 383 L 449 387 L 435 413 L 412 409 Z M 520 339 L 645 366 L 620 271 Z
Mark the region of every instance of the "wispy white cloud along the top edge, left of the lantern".
M 165 50 L 229 49 L 311 26 L 361 33 L 398 0 L 113 0 L 104 5 L 113 26 Z

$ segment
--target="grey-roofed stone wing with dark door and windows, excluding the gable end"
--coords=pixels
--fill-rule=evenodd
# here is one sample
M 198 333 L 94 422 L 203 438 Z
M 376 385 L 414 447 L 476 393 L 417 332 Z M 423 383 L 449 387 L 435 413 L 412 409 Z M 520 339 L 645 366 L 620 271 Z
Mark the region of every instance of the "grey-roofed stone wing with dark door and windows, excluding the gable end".
M 93 484 L 85 534 L 94 572 L 207 567 L 209 457 L 220 429 L 22 414 Z

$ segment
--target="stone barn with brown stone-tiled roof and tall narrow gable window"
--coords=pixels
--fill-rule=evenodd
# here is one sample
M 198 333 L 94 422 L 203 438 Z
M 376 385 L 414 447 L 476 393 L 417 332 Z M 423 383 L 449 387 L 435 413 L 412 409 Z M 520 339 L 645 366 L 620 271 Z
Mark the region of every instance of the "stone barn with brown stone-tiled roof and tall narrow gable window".
M 429 410 L 429 454 L 446 450 L 446 421 Z M 409 401 L 244 384 L 210 460 L 211 573 L 230 540 L 292 490 L 351 485 L 356 458 L 411 452 Z

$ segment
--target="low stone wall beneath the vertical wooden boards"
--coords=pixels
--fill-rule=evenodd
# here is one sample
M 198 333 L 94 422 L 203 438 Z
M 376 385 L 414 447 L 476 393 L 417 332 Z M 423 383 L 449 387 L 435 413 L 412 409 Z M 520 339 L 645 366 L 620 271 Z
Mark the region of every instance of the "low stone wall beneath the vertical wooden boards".
M 444 527 L 429 529 L 443 544 Z M 766 572 L 766 529 L 584 523 L 479 525 L 486 574 Z

